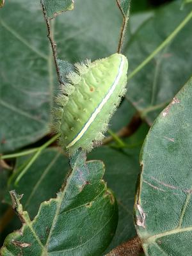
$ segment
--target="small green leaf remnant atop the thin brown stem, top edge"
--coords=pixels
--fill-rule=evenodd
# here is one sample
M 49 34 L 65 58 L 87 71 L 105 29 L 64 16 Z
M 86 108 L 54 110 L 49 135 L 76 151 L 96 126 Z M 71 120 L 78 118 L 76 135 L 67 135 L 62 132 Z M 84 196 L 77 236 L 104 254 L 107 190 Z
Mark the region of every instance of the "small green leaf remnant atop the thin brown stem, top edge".
M 52 19 L 56 17 L 56 15 L 61 12 L 70 11 L 74 8 L 73 0 L 41 0 L 42 4 L 44 4 L 46 17 L 48 19 Z

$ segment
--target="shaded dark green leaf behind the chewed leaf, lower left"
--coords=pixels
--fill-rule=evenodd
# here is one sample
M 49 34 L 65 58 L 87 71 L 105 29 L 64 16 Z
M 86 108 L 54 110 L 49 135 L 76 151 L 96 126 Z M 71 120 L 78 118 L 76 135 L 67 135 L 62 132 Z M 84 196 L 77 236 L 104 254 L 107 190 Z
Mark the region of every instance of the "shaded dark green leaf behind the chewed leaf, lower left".
M 22 206 L 25 211 L 29 212 L 29 216 L 34 218 L 39 205 L 55 196 L 60 190 L 70 169 L 67 157 L 63 156 L 56 148 L 47 148 L 31 165 L 18 184 L 15 185 L 20 168 L 28 163 L 29 159 L 31 159 L 31 155 L 17 158 L 7 191 L 15 189 L 17 193 L 23 194 Z M 6 193 L 4 202 L 12 204 L 8 193 Z

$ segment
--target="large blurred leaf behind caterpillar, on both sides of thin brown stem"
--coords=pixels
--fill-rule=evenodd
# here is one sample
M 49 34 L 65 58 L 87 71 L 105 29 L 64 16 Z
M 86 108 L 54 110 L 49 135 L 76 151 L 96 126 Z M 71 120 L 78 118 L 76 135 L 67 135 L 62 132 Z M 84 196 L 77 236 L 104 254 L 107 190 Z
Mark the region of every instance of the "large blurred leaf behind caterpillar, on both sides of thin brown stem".
M 74 11 L 53 20 L 58 56 L 76 62 L 112 54 L 121 23 L 115 1 L 77 0 Z M 0 34 L 0 151 L 6 152 L 49 131 L 58 85 L 40 0 L 8 1 L 0 12 Z

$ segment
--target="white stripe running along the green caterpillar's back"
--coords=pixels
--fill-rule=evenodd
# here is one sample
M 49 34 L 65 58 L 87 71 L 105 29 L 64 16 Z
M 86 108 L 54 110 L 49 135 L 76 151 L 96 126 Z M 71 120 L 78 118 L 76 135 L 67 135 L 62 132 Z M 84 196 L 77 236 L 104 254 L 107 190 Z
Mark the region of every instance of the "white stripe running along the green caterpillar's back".
M 92 115 L 90 116 L 90 119 L 88 120 L 88 122 L 86 122 L 86 124 L 84 125 L 83 129 L 79 132 L 79 134 L 77 134 L 76 138 L 74 138 L 74 140 L 72 140 L 66 148 L 70 148 L 72 147 L 78 140 L 81 139 L 81 137 L 83 136 L 84 132 L 86 132 L 86 130 L 88 129 L 88 127 L 90 127 L 90 125 L 92 124 L 92 122 L 95 120 L 96 116 L 100 113 L 101 109 L 103 108 L 103 106 L 108 102 L 109 98 L 111 97 L 112 93 L 114 92 L 116 86 L 118 85 L 118 82 L 120 81 L 120 77 L 122 76 L 123 73 L 123 69 L 124 69 L 124 58 L 122 58 L 121 63 L 120 63 L 120 67 L 118 69 L 118 74 L 116 76 L 116 79 L 113 83 L 113 86 L 111 86 L 111 88 L 109 89 L 108 94 L 104 97 L 104 99 L 102 100 L 102 102 L 100 102 L 99 106 L 95 109 L 95 111 L 92 113 Z

